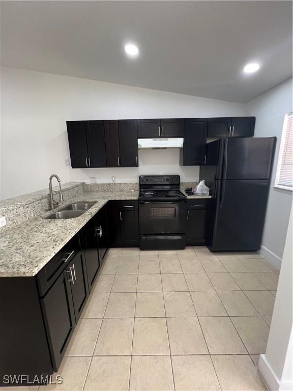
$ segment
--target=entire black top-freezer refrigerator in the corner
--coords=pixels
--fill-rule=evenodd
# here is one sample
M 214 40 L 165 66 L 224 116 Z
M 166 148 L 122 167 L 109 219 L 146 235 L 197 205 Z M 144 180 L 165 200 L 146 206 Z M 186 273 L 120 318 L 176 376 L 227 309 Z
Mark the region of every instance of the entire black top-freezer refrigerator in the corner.
M 276 137 L 220 138 L 207 144 L 200 167 L 212 195 L 207 246 L 216 251 L 260 249 Z

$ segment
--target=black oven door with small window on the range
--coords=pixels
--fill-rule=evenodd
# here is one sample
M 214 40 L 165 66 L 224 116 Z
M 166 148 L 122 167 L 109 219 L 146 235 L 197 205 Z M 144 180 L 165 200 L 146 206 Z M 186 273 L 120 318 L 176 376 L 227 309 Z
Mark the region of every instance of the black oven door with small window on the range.
M 139 201 L 140 234 L 184 234 L 186 201 Z

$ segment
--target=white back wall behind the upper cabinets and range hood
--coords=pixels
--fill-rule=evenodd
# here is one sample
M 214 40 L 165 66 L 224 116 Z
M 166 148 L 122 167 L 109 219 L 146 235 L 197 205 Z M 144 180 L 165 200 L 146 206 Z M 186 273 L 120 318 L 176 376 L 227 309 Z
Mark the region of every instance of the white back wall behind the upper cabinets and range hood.
M 180 167 L 179 150 L 139 152 L 139 167 L 71 169 L 66 120 L 242 116 L 245 107 L 214 99 L 127 87 L 13 68 L 1 68 L 1 198 L 40 190 L 52 173 L 72 180 L 137 182 L 140 174 L 198 179 L 198 167 Z M 192 80 L 191 80 L 192 82 Z

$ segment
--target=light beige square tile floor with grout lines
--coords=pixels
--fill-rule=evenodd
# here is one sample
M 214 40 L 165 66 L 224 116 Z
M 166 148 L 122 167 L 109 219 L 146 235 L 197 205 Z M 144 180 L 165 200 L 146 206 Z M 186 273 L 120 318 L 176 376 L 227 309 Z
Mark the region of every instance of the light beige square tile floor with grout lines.
M 58 372 L 64 384 L 44 389 L 265 390 L 257 361 L 277 283 L 257 253 L 111 248 Z

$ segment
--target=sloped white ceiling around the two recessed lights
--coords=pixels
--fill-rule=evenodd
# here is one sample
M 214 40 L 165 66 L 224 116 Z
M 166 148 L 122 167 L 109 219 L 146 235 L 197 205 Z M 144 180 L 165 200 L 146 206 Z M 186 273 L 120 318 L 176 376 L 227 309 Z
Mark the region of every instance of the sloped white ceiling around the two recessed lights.
M 1 11 L 3 66 L 243 103 L 292 75 L 290 1 L 6 1 Z M 244 75 L 249 62 L 260 71 Z

